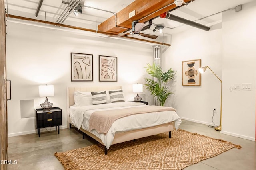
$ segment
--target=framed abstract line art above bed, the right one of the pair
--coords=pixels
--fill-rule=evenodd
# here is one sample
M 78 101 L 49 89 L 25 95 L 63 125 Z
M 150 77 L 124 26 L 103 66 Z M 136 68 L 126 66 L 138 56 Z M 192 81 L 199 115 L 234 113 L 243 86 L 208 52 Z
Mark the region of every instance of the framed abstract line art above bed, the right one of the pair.
M 99 81 L 117 82 L 117 57 L 99 55 Z

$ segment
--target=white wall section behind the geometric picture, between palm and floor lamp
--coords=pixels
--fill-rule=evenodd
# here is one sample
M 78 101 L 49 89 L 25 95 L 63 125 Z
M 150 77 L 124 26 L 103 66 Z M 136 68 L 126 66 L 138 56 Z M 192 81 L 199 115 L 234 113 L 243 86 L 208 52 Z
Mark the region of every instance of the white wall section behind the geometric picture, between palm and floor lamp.
M 164 68 L 177 71 L 172 84 L 174 95 L 166 104 L 176 108 L 183 119 L 212 124 L 213 108 L 217 108 L 214 123 L 219 124 L 220 81 L 209 70 L 201 76 L 201 86 L 182 86 L 182 61 L 201 59 L 221 78 L 222 30 L 191 29 L 172 37 L 172 46 L 163 55 Z

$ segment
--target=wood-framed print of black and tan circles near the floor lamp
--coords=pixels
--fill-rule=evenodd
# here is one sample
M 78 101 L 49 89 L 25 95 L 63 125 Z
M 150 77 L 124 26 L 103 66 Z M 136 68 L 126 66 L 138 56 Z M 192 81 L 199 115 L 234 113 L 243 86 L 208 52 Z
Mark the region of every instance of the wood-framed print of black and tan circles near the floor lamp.
M 182 61 L 182 86 L 201 86 L 201 59 Z

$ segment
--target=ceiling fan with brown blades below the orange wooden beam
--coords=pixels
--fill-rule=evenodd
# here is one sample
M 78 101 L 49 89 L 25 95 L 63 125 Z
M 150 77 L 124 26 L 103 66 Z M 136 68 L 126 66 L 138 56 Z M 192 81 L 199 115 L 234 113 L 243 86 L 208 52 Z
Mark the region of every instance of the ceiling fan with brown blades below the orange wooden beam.
M 146 29 L 148 29 L 150 27 L 150 26 L 148 27 L 148 25 L 147 26 L 145 26 L 145 25 L 146 25 L 145 23 L 139 23 L 137 20 L 133 21 L 132 22 L 132 32 L 125 33 L 125 32 L 127 32 L 127 31 L 125 31 L 124 32 L 125 34 L 113 35 L 113 36 L 110 36 L 110 37 L 116 37 L 116 36 L 123 37 L 123 36 L 133 35 L 133 36 L 142 36 L 142 37 L 156 39 L 158 37 L 156 35 L 144 34 L 144 33 L 140 32 L 140 31 L 146 30 Z

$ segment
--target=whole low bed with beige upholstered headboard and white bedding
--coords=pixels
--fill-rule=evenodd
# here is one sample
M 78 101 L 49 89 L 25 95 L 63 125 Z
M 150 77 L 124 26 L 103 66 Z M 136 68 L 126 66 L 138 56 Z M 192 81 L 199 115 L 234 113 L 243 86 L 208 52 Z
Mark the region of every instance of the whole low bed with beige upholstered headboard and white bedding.
M 88 135 L 104 145 L 105 154 L 108 153 L 108 149 L 110 145 L 114 145 L 116 143 L 122 143 L 125 141 L 131 141 L 135 139 L 139 139 L 142 137 L 147 137 L 151 135 L 156 135 L 159 133 L 169 132 L 169 137 L 171 137 L 171 131 L 174 129 L 178 129 L 178 126 L 181 123 L 180 117 L 178 117 L 175 109 L 161 112 L 150 112 L 150 113 L 132 113 L 129 116 L 123 116 L 117 119 L 114 119 L 113 123 L 109 125 L 110 127 L 102 128 L 102 127 L 90 127 L 89 125 L 101 125 L 102 123 L 96 119 L 94 122 L 90 123 L 92 119 L 92 113 L 94 115 L 96 113 L 108 113 L 109 115 L 112 112 L 129 112 L 130 110 L 144 110 L 152 109 L 153 107 L 159 106 L 147 106 L 143 103 L 138 102 L 124 102 L 124 98 L 114 98 L 113 96 L 109 96 L 109 92 L 120 92 L 113 94 L 122 94 L 122 86 L 90 86 L 90 87 L 68 87 L 67 89 L 67 123 L 68 128 L 72 125 L 77 127 L 84 135 Z M 77 105 L 77 98 L 74 95 L 78 94 L 89 94 L 91 92 L 104 92 L 106 91 L 107 103 L 104 104 L 95 104 L 98 102 L 94 100 L 94 104 L 82 104 Z M 111 94 L 110 94 L 111 95 Z M 97 95 L 95 95 L 97 96 Z M 118 95 L 116 95 L 118 96 Z M 94 96 L 93 96 L 94 97 Z M 92 98 L 93 98 L 92 97 Z M 113 97 L 113 98 L 112 98 Z M 110 99 L 111 98 L 111 99 Z M 83 97 L 82 99 L 86 99 L 86 102 L 90 98 Z M 91 100 L 91 99 L 90 99 Z M 118 100 L 118 101 L 115 101 Z M 119 101 L 120 100 L 120 101 Z M 82 100 L 80 100 L 83 102 Z M 91 102 L 91 101 L 90 101 Z M 90 103 L 89 102 L 89 103 Z M 151 108 L 152 107 L 152 108 Z M 139 109 L 138 109 L 139 108 Z M 171 108 L 171 107 L 170 107 Z M 158 108 L 159 109 L 159 108 Z M 162 107 L 160 109 L 163 109 Z M 169 109 L 169 108 L 168 108 Z M 146 121 L 145 121 L 146 117 Z M 91 128 L 91 129 L 90 129 Z M 95 129 L 94 129 L 95 128 Z M 98 129 L 97 129 L 98 128 Z M 101 128 L 101 129 L 100 129 Z M 97 129 L 97 130 L 96 130 Z M 102 133 L 102 129 L 104 133 Z

